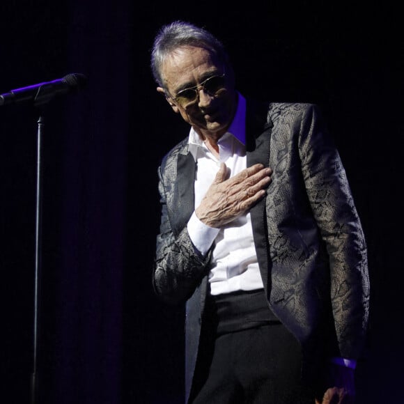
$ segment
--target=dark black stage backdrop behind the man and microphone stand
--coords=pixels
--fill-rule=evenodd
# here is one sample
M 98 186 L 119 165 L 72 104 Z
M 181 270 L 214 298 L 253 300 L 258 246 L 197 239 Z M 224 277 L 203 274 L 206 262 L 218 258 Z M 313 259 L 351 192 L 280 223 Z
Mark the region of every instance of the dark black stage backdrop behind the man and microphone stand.
M 371 323 L 357 369 L 358 404 L 401 400 L 398 9 L 387 2 L 26 0 L 2 1 L 0 15 L 0 93 L 72 72 L 88 77 L 83 91 L 44 109 L 0 107 L 0 403 L 31 403 L 34 371 L 38 404 L 182 403 L 182 311 L 151 290 L 157 166 L 187 135 L 149 70 L 153 37 L 174 19 L 223 40 L 244 95 L 323 106 L 369 250 Z

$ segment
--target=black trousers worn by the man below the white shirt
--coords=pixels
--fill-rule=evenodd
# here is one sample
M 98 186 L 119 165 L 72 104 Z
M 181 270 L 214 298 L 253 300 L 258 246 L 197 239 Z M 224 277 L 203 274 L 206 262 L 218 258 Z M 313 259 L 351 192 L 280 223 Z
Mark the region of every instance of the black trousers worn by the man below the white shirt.
M 301 385 L 300 344 L 274 320 L 263 291 L 208 304 L 189 403 L 314 403 Z

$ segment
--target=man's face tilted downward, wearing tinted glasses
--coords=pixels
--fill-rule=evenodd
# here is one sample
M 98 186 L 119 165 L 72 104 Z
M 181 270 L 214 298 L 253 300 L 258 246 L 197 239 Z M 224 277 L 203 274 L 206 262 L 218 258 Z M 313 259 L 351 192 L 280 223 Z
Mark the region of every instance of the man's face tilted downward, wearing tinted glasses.
M 222 84 L 217 91 L 209 91 L 209 84 L 206 85 L 206 91 L 201 86 L 206 79 L 222 75 L 224 78 L 214 79 Z M 237 96 L 233 72 L 225 72 L 224 65 L 214 55 L 201 47 L 176 49 L 162 66 L 162 77 L 166 87 L 166 100 L 173 111 L 181 114 L 203 139 L 219 139 L 226 132 L 235 114 Z M 194 94 L 194 100 L 184 102 L 179 98 L 180 91 L 195 86 L 201 87 L 194 93 L 191 91 L 190 95 Z M 157 87 L 157 91 L 164 93 L 164 88 Z M 178 98 L 173 99 L 177 95 Z

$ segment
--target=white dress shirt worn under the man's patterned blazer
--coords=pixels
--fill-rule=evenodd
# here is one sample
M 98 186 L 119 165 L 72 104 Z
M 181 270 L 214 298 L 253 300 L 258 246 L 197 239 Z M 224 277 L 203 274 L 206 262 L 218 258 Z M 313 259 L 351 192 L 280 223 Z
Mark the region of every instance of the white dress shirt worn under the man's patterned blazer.
M 219 160 L 208 150 L 199 135 L 189 132 L 189 151 L 197 162 L 195 179 L 195 208 L 201 203 L 208 187 L 212 184 L 220 163 L 224 162 L 230 176 L 247 167 L 245 153 L 245 99 L 238 96 L 238 109 L 228 132 L 217 145 Z M 263 288 L 254 247 L 250 214 L 242 215 L 223 228 L 211 228 L 203 224 L 194 212 L 187 224 L 189 236 L 196 249 L 206 254 L 212 242 L 212 267 L 209 274 L 212 295 L 235 290 L 255 290 Z

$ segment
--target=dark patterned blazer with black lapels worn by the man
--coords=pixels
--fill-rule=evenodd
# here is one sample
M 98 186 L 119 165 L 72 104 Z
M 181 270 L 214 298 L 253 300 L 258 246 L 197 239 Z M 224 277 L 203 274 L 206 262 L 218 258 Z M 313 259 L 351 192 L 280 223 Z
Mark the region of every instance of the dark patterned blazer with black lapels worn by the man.
M 272 313 L 300 341 L 309 373 L 329 355 L 357 359 L 368 322 L 366 242 L 343 164 L 318 107 L 247 100 L 246 138 L 247 166 L 261 162 L 273 170 L 267 196 L 251 208 Z M 187 396 L 211 252 L 198 254 L 187 233 L 196 169 L 187 139 L 159 167 L 162 217 L 153 276 L 162 299 L 186 302 Z

